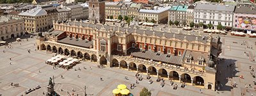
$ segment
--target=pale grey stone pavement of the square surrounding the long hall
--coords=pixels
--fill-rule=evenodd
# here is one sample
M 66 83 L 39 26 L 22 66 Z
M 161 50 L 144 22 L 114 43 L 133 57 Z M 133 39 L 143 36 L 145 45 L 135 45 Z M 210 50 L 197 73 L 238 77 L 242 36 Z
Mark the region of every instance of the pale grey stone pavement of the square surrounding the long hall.
M 223 84 L 220 88 L 219 93 L 212 90 L 202 89 L 203 93 L 199 93 L 198 87 L 186 86 L 185 88 L 178 88 L 172 90 L 172 86 L 166 82 L 166 85 L 162 88 L 160 83 L 154 82 L 148 84 L 147 79 L 143 79 L 139 84 L 136 84 L 136 88 L 131 90 L 134 95 L 139 95 L 143 87 L 147 87 L 152 91 L 152 95 L 159 96 L 170 96 L 170 95 L 241 95 L 244 93 L 244 84 L 252 84 L 253 78 L 250 76 L 249 66 L 256 68 L 255 63 L 248 60 L 248 57 L 244 54 L 244 51 L 251 52 L 252 56 L 255 56 L 255 50 L 247 49 L 246 46 L 242 46 L 241 42 L 247 41 L 249 45 L 252 45 L 253 40 L 248 38 L 237 38 L 237 37 L 223 37 L 221 58 L 227 58 L 225 61 L 221 61 L 220 72 L 218 73 L 217 79 Z M 255 41 L 254 41 L 255 42 Z M 21 45 L 20 45 L 21 44 Z M 97 63 L 84 61 L 74 68 L 81 68 L 81 70 L 75 71 L 64 70 L 63 68 L 53 69 L 51 65 L 46 65 L 45 60 L 52 57 L 53 54 L 46 54 L 45 51 L 35 51 L 35 38 L 29 38 L 29 41 L 13 42 L 11 45 L 12 49 L 0 46 L 0 95 L 24 95 L 24 91 L 29 88 L 35 88 L 36 85 L 42 86 L 39 90 L 29 93 L 28 95 L 43 95 L 46 92 L 46 86 L 48 84 L 49 77 L 54 76 L 54 90 L 61 95 L 84 95 L 84 86 L 86 86 L 86 93 L 90 95 L 112 95 L 112 90 L 116 88 L 118 84 L 126 84 L 129 88 L 129 84 L 136 82 L 134 76 L 136 72 L 128 71 L 127 69 L 120 68 L 98 68 Z M 254 46 L 255 47 L 255 46 Z M 28 53 L 28 49 L 31 49 L 31 53 Z M 3 52 L 6 51 L 6 52 Z M 12 58 L 10 61 L 9 58 Z M 228 67 L 229 63 L 236 63 L 236 68 Z M 11 63 L 11 65 L 10 65 Z M 84 69 L 83 67 L 86 67 Z M 90 69 L 92 67 L 92 70 Z M 40 70 L 40 72 L 39 72 Z M 61 75 L 64 79 L 61 78 Z M 77 77 L 79 75 L 79 78 Z M 231 77 L 231 81 L 227 81 L 227 77 Z M 243 75 L 244 79 L 239 80 L 239 76 Z M 127 76 L 129 80 L 125 80 Z M 145 74 L 142 75 L 146 77 Z M 100 77 L 104 81 L 100 81 Z M 156 77 L 153 77 L 156 80 Z M 238 88 L 232 88 L 232 81 L 238 83 Z M 19 83 L 19 87 L 10 86 L 10 83 Z M 180 86 L 180 83 L 177 83 Z M 254 84 L 252 84 L 254 87 Z M 72 92 L 74 88 L 75 92 Z M 61 91 L 61 89 L 63 91 Z M 253 88 L 249 88 L 245 95 L 255 94 Z

